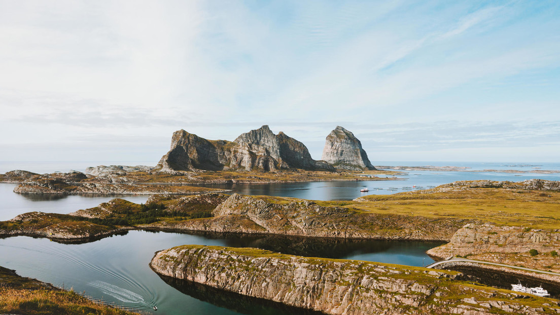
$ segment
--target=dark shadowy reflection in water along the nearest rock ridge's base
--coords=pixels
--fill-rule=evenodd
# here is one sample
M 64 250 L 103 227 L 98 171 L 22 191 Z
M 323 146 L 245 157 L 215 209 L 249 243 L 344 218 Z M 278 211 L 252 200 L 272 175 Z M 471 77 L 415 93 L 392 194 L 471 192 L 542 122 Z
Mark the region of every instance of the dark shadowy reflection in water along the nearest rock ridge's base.
M 175 279 L 159 275 L 165 283 L 169 284 L 179 292 L 189 295 L 203 302 L 214 304 L 218 307 L 230 309 L 231 311 L 249 315 L 321 315 L 323 312 L 311 311 L 309 309 L 292 307 L 271 300 L 248 297 L 225 290 L 213 288 L 212 286 L 196 283 L 188 280 Z

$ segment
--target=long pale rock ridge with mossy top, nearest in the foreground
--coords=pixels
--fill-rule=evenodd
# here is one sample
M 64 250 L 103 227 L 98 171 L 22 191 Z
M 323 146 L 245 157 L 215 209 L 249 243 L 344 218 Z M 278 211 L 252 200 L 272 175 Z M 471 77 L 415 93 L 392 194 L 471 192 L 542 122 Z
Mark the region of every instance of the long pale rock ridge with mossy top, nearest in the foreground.
M 157 252 L 150 266 L 161 275 L 327 314 L 560 312 L 549 299 L 512 300 L 518 295 L 468 285 L 457 272 L 255 248 L 184 245 Z

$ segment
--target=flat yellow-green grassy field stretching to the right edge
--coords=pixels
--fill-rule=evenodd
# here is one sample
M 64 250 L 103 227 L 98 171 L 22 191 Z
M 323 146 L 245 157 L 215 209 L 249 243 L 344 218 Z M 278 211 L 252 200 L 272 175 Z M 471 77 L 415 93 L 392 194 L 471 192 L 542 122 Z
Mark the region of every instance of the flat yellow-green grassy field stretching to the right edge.
M 369 195 L 363 201 L 315 201 L 371 213 L 464 218 L 500 225 L 560 228 L 560 192 L 498 188 L 433 189 Z

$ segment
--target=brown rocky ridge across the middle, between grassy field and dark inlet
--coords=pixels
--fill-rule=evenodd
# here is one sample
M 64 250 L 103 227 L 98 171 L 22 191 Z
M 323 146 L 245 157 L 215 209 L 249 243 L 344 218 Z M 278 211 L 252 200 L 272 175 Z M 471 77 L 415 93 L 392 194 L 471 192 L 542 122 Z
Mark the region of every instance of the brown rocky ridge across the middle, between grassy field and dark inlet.
M 473 220 L 378 214 L 290 198 L 231 195 L 212 218 L 159 223 L 182 231 L 270 233 L 291 236 L 449 241 Z

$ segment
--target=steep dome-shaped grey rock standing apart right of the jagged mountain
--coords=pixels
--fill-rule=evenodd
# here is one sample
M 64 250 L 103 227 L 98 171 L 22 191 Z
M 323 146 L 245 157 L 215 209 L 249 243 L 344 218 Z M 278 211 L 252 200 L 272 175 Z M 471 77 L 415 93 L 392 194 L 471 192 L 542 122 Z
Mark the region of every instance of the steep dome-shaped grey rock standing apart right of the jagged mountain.
M 362 143 L 350 131 L 337 126 L 326 137 L 322 160 L 343 170 L 375 170 Z

